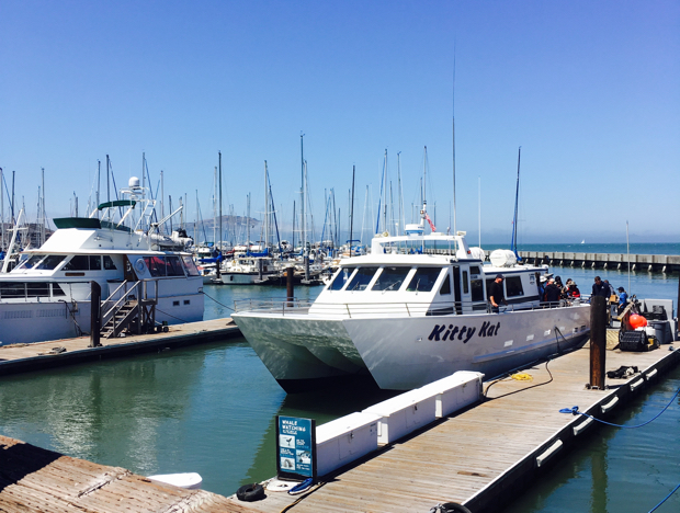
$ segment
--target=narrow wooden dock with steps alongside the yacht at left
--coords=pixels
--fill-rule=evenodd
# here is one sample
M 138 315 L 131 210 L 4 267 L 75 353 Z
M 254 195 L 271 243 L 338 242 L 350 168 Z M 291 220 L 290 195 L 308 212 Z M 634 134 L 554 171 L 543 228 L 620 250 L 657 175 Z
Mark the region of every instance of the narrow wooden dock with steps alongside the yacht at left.
M 240 337 L 231 318 L 185 324 L 172 324 L 168 332 L 101 339 L 100 347 L 90 347 L 90 338 L 52 340 L 0 346 L 0 376 L 71 365 L 103 358 L 116 358 L 166 347 L 219 342 Z M 65 350 L 65 351 L 61 351 Z

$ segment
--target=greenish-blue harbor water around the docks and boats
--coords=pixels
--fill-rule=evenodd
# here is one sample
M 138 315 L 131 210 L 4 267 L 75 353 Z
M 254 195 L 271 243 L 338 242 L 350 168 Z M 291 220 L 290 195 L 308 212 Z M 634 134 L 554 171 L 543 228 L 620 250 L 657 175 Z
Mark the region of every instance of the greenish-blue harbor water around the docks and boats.
M 677 275 L 552 271 L 563 282 L 574 278 L 585 294 L 598 274 L 641 298 L 678 297 Z M 296 296 L 311 299 L 319 290 L 298 287 Z M 206 319 L 228 317 L 235 299 L 285 295 L 285 288 L 259 286 L 208 285 L 205 292 Z M 680 369 L 675 369 L 613 422 L 637 424 L 654 417 L 678 387 Z M 0 434 L 141 475 L 196 471 L 205 489 L 231 494 L 275 474 L 275 415 L 322 424 L 392 395 L 343 389 L 286 396 L 248 343 L 235 339 L 2 377 Z M 648 426 L 598 428 L 506 513 L 649 511 L 680 482 L 679 428 L 678 399 Z M 678 493 L 657 511 L 680 511 Z

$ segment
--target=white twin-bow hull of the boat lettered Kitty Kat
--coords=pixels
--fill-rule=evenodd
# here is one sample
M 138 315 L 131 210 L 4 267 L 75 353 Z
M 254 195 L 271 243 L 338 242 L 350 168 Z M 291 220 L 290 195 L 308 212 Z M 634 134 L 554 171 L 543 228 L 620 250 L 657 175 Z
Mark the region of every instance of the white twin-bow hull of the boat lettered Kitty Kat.
M 320 318 L 249 311 L 234 315 L 243 337 L 286 391 L 370 374 L 383 389 L 409 390 L 475 371 L 491 378 L 580 347 L 590 309 L 469 316 Z

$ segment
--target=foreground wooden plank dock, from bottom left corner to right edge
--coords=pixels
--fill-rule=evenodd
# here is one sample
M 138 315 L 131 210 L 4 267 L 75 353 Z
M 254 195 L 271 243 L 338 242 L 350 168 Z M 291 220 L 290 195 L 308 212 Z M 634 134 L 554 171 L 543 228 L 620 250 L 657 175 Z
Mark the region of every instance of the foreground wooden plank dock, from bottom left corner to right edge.
M 582 412 L 605 418 L 678 363 L 680 351 L 669 345 L 647 353 L 610 350 L 608 371 L 626 365 L 641 373 L 609 379 L 604 390 L 587 389 L 586 346 L 525 369 L 531 381 L 485 383 L 484 402 L 321 477 L 306 494 L 268 491 L 257 502 L 174 489 L 121 468 L 0 437 L 0 510 L 413 513 L 456 502 L 473 513 L 492 512 L 596 425 L 582 415 L 560 413 L 562 408 L 578 404 Z

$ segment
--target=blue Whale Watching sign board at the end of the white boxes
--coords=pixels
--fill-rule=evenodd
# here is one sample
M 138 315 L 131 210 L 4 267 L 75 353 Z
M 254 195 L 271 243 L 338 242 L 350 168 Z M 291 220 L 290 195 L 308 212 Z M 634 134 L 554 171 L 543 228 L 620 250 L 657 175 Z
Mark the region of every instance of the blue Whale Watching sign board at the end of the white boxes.
M 316 479 L 316 422 L 276 415 L 276 474 L 279 478 Z

